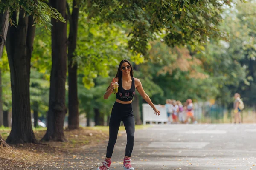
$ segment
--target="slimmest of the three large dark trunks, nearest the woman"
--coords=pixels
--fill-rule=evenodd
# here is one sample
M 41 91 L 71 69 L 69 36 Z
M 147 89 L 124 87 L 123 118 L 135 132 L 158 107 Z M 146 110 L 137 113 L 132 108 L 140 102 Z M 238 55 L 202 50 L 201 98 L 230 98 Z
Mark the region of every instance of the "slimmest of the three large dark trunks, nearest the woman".
M 68 9 L 69 11 L 69 9 Z M 70 14 L 70 13 L 69 13 Z M 73 0 L 72 16 L 70 20 L 70 32 L 68 41 L 68 128 L 79 128 L 79 111 L 77 96 L 77 62 L 75 62 L 76 39 L 78 29 L 79 8 L 76 0 Z

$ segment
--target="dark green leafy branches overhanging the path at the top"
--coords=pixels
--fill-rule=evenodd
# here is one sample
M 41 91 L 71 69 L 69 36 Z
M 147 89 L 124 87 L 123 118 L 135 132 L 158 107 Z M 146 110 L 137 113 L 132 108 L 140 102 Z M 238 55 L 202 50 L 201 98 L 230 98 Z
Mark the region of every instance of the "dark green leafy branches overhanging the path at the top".
M 148 55 L 148 42 L 161 34 L 169 46 L 200 47 L 208 37 L 225 37 L 217 26 L 224 6 L 234 1 L 223 0 L 93 0 L 88 2 L 89 17 L 100 15 L 103 21 L 127 22 L 131 39 L 129 47 Z

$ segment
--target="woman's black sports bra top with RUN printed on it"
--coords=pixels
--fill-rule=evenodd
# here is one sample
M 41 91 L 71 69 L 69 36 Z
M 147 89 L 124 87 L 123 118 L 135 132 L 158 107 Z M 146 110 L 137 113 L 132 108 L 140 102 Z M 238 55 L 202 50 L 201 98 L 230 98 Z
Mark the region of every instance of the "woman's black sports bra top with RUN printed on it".
M 118 92 L 116 93 L 116 99 L 119 99 L 123 102 L 128 102 L 133 99 L 135 95 L 135 82 L 133 77 L 131 77 L 131 79 L 131 88 L 129 90 L 125 90 L 122 88 L 122 77 L 120 77 Z

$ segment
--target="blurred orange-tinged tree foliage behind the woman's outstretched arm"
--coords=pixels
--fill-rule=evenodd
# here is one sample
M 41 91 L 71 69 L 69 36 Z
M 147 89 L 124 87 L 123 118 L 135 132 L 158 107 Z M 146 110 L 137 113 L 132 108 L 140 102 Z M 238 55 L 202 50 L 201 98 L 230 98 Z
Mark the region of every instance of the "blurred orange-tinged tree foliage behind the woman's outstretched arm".
M 154 94 L 154 103 L 165 99 L 186 101 L 207 100 L 214 97 L 217 87 L 212 86 L 214 77 L 209 77 L 198 57 L 191 56 L 186 48 L 170 48 L 160 40 L 151 42 L 149 61 L 141 65 L 144 77 L 152 77 L 152 83 L 162 91 Z M 211 88 L 209 88 L 211 87 Z M 151 89 L 157 89 L 151 85 Z

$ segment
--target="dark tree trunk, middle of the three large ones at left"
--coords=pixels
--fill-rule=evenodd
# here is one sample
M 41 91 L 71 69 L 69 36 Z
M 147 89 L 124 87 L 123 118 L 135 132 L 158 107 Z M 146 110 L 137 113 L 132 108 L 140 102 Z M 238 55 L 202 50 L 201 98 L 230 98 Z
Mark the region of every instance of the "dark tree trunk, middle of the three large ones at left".
M 50 0 L 66 18 L 66 0 Z M 50 77 L 47 131 L 42 140 L 66 141 L 64 136 L 65 82 L 67 78 L 67 23 L 52 18 L 52 70 Z

